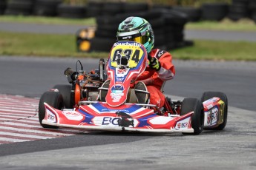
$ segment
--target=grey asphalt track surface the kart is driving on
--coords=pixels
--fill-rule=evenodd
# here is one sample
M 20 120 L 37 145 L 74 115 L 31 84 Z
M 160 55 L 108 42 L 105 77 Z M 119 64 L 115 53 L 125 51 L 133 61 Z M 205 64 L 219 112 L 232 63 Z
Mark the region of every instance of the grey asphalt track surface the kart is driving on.
M 95 59 L 81 61 L 87 70 L 97 65 Z M 40 97 L 55 84 L 67 84 L 63 71 L 75 64 L 76 58 L 1 56 L 0 93 Z M 85 132 L 3 144 L 0 169 L 256 169 L 256 64 L 174 61 L 174 65 L 177 75 L 165 85 L 165 94 L 200 98 L 207 90 L 225 92 L 226 129 L 198 136 Z

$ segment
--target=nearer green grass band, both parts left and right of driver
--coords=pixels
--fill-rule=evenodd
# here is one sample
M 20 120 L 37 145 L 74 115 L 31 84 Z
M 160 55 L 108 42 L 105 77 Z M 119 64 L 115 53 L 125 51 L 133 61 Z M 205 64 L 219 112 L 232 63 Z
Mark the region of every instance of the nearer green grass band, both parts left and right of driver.
M 196 40 L 171 50 L 175 59 L 256 61 L 256 43 Z M 108 52 L 76 52 L 75 35 L 0 32 L 0 55 L 107 58 Z

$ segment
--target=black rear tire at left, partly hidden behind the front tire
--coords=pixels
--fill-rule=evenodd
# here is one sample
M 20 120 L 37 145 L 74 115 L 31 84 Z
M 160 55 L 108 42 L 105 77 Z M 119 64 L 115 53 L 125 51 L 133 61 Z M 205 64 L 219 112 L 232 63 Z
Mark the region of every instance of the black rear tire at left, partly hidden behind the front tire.
M 74 106 L 74 94 L 71 91 L 72 86 L 69 84 L 57 84 L 53 86 L 53 89 L 58 89 L 64 100 L 65 108 L 73 109 Z

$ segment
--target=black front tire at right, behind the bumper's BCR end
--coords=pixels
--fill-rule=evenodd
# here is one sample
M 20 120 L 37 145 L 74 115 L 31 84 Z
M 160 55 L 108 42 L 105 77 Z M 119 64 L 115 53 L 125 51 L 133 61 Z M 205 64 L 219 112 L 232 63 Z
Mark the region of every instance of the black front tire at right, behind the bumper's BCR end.
M 203 103 L 197 98 L 185 98 L 181 105 L 180 115 L 186 115 L 192 111 L 194 111 L 194 114 L 191 118 L 191 126 L 194 129 L 194 135 L 199 135 L 203 131 Z

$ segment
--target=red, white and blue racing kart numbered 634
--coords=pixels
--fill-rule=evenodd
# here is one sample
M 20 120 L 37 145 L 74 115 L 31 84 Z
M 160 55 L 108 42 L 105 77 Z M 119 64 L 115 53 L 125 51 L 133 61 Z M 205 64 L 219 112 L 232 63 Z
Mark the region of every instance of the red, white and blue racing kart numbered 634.
M 70 85 L 53 86 L 40 98 L 40 124 L 51 129 L 70 127 L 193 135 L 199 135 L 203 129 L 224 129 L 228 100 L 223 92 L 204 92 L 201 100 L 185 98 L 175 101 L 166 97 L 163 108 L 137 103 L 136 89 L 130 86 L 147 68 L 148 57 L 142 44 L 119 41 L 111 49 L 106 70 L 104 59 L 99 60 L 99 69 L 91 72 L 84 71 L 81 62 L 77 61 L 76 71 L 65 70 Z M 105 88 L 102 84 L 107 77 L 110 82 Z M 99 100 L 99 93 L 104 90 L 105 98 Z

